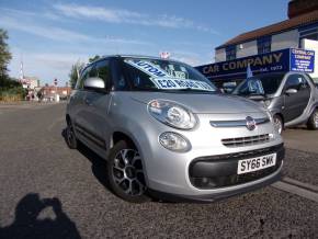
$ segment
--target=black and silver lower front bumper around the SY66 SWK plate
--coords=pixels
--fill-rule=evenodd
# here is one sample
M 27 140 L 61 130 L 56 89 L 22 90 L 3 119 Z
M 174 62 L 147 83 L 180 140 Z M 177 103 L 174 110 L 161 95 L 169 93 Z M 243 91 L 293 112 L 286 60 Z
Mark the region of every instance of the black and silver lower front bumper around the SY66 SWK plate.
M 237 174 L 238 161 L 269 153 L 276 153 L 276 164 L 263 170 Z M 155 184 L 150 193 L 160 198 L 173 201 L 212 202 L 224 197 L 250 192 L 280 180 L 285 149 L 283 144 L 237 153 L 200 157 L 188 166 L 188 186 Z M 203 183 L 202 179 L 208 179 Z M 162 181 L 161 181 L 162 182 Z M 183 184 L 184 185 L 184 184 Z

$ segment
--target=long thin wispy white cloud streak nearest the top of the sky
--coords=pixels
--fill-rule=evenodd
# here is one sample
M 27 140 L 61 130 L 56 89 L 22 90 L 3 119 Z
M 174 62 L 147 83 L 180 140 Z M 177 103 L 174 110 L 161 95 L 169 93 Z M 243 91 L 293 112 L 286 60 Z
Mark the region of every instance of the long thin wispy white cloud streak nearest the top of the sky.
M 154 25 L 168 29 L 192 29 L 201 32 L 218 34 L 215 30 L 197 24 L 191 20 L 174 15 L 149 15 L 140 12 L 128 11 L 125 9 L 107 9 L 79 4 L 54 4 L 55 10 L 59 13 L 71 18 L 87 18 L 91 20 L 100 20 L 110 23 L 126 23 L 135 25 Z

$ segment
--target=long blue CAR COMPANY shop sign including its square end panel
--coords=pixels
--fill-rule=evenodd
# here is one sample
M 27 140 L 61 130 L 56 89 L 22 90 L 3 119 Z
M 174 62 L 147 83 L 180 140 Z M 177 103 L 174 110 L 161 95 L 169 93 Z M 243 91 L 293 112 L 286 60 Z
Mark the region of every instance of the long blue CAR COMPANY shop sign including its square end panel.
M 299 50 L 302 49 L 287 48 L 228 61 L 198 66 L 196 67 L 196 69 L 212 80 L 243 79 L 247 77 L 248 65 L 250 65 L 253 75 L 265 72 L 286 72 L 289 70 L 313 72 L 314 71 L 313 55 L 315 55 L 315 52 L 302 50 L 305 52 L 306 53 L 305 54 L 300 53 Z M 305 62 L 304 60 L 307 61 Z

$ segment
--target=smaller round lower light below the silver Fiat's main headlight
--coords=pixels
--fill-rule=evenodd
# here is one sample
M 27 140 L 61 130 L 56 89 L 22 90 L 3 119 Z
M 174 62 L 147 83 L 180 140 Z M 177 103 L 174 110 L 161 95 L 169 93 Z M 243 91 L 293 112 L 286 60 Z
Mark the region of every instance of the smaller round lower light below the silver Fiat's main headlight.
M 172 151 L 185 152 L 191 149 L 191 145 L 188 139 L 172 132 L 162 133 L 159 136 L 159 141 L 164 148 Z

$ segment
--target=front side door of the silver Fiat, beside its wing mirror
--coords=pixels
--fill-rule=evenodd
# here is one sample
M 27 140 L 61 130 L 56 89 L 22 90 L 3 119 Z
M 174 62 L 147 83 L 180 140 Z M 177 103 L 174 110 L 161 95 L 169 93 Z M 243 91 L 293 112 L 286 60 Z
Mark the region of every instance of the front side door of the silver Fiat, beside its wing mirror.
M 104 90 L 87 90 L 86 122 L 89 125 L 89 137 L 99 148 L 106 149 L 109 135 L 109 106 L 111 103 L 111 66 L 110 59 L 95 62 L 90 77 L 101 78 L 105 83 Z

